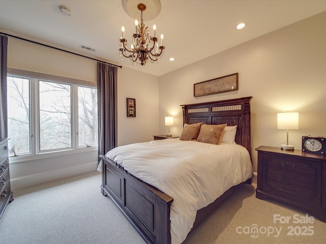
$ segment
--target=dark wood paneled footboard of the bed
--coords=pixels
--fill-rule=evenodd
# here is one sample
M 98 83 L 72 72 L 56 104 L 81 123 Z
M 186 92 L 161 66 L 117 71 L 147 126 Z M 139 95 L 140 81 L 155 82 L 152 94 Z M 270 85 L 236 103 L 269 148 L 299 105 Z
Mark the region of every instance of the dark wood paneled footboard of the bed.
M 147 243 L 171 243 L 173 198 L 128 174 L 107 157 L 99 157 L 103 159 L 102 194 L 114 201 Z

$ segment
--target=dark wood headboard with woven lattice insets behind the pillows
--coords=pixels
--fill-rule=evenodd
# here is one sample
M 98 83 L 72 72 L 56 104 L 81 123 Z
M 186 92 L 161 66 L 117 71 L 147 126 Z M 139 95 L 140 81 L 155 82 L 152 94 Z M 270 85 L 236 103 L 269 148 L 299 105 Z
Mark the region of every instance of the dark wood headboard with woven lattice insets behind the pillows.
M 253 97 L 208 103 L 181 105 L 183 124 L 237 126 L 235 142 L 247 148 L 251 156 L 250 101 Z

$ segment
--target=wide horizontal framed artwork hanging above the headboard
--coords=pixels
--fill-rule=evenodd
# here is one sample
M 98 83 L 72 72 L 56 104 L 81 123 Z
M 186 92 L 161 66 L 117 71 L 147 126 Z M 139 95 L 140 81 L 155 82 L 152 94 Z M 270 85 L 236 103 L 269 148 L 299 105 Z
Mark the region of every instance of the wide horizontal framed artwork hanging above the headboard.
M 238 73 L 205 80 L 194 84 L 194 97 L 238 90 Z

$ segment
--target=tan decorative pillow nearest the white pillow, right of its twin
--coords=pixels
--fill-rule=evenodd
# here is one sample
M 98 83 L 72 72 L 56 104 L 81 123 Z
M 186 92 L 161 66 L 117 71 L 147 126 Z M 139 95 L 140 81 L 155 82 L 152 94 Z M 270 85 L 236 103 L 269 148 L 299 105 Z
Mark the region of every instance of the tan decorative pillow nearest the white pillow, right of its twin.
M 226 125 L 201 125 L 197 141 L 219 145 Z

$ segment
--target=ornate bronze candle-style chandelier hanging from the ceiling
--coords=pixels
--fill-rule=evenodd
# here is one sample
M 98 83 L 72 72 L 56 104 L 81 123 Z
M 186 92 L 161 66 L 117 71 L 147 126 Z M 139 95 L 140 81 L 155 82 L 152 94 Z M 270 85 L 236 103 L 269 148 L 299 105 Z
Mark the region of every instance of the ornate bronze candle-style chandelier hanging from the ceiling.
M 138 60 L 142 66 L 144 66 L 149 59 L 150 63 L 158 62 L 158 59 L 165 54 L 165 47 L 163 46 L 163 34 L 161 34 L 161 45 L 158 46 L 158 39 L 155 36 L 156 25 L 153 25 L 154 36 L 149 36 L 149 29 L 145 26 L 143 21 L 143 11 L 146 9 L 145 4 L 139 4 L 138 9 L 141 11 L 141 23 L 138 24 L 138 20 L 134 21 L 136 33 L 132 34 L 132 44 L 130 49 L 127 45 L 127 39 L 124 38 L 124 26 L 122 26 L 122 37 L 120 38 L 119 55 L 123 58 L 129 58 L 132 64 L 138 64 Z

